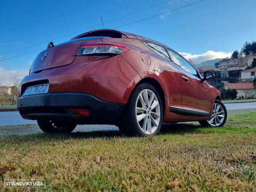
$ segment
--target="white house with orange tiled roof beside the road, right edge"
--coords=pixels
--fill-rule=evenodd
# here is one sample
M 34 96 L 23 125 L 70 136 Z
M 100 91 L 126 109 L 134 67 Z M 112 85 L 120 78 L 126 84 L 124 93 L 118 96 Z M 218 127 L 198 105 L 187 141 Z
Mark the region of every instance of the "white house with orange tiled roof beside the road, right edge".
M 224 89 L 236 89 L 237 90 L 237 98 L 244 96 L 244 98 L 248 97 L 256 97 L 256 89 L 253 89 L 253 82 L 239 82 L 239 83 L 226 83 L 224 85 Z

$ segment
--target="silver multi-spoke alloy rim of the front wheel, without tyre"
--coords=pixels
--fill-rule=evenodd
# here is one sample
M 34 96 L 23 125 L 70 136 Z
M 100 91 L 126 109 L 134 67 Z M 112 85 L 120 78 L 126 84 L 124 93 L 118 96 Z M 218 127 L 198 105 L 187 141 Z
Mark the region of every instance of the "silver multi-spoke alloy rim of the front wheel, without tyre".
M 213 109 L 212 109 L 212 116 L 209 120 L 207 120 L 207 122 L 211 126 L 217 127 L 218 125 L 221 125 L 224 119 L 225 119 L 224 108 L 218 103 L 214 103 Z

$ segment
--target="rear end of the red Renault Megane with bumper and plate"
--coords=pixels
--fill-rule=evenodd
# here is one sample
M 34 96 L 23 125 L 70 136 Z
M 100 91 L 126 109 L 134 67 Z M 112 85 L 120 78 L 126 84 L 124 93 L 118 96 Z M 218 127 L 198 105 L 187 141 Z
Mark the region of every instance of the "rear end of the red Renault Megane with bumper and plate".
M 128 37 L 96 31 L 57 46 L 49 44 L 20 82 L 20 115 L 33 120 L 116 124 L 128 100 L 128 87 L 138 78 L 121 55 L 131 49 L 118 41 L 122 38 Z

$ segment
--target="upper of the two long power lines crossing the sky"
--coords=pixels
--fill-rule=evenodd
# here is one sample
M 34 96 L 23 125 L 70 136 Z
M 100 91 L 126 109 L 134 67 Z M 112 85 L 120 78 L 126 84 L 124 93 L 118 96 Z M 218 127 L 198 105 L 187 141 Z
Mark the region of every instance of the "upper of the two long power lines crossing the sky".
M 158 3 L 158 4 L 156 4 L 156 5 L 147 7 L 147 8 L 145 8 L 145 9 L 141 9 L 141 10 L 139 10 L 139 11 L 137 11 L 137 12 L 133 12 L 133 13 L 131 13 L 131 14 L 124 15 L 124 16 L 122 16 L 122 17 L 118 17 L 118 18 L 115 18 L 115 19 L 113 19 L 113 20 L 106 21 L 105 23 L 110 23 L 110 22 L 113 22 L 113 21 L 115 21 L 115 20 L 119 20 L 119 19 L 122 19 L 122 18 L 124 18 L 124 17 L 128 17 L 128 16 L 131 16 L 131 15 L 137 14 L 137 13 L 139 13 L 139 12 L 143 12 L 143 11 L 145 11 L 145 10 L 147 10 L 147 9 L 151 9 L 151 8 L 153 8 L 153 7 L 162 5 L 162 4 L 164 4 L 164 3 L 168 3 L 168 2 L 170 2 L 170 1 L 173 1 L 173 0 L 168 0 L 168 1 L 165 1 L 165 2 L 163 2 L 163 3 Z M 103 24 L 103 22 L 102 22 L 102 24 Z M 72 32 L 72 33 L 69 33 L 69 34 L 67 34 L 67 35 L 62 35 L 62 36 L 57 37 L 57 38 L 54 38 L 54 39 L 52 39 L 52 40 L 50 40 L 50 41 L 54 41 L 54 40 L 56 40 L 56 39 L 66 37 L 66 36 L 68 36 L 68 35 L 72 35 L 72 34 L 74 34 L 74 33 L 84 31 L 84 30 L 86 30 L 86 29 L 91 29 L 91 28 L 94 28 L 94 27 L 97 27 L 97 26 L 101 26 L 102 24 L 98 24 L 98 25 L 95 25 L 95 26 L 90 26 L 90 27 L 88 27 L 88 28 L 81 29 L 81 30 L 76 31 L 76 32 Z M 103 24 L 103 26 L 104 26 L 104 24 Z M 24 48 L 21 48 L 21 49 L 16 49 L 16 50 L 13 50 L 13 51 L 10 51 L 10 52 L 6 52 L 6 53 L 3 53 L 2 55 L 7 55 L 7 54 L 12 53 L 12 52 L 20 51 L 20 50 L 23 50 L 23 49 L 27 49 L 27 48 L 34 47 L 34 46 L 37 46 L 37 45 L 40 45 L 40 44 L 44 44 L 44 43 L 48 43 L 48 42 L 49 42 L 49 41 L 44 41 L 44 42 L 41 42 L 41 43 L 38 43 L 38 44 L 34 44 L 34 45 L 31 45 L 31 46 L 28 46 L 28 47 L 24 47 Z

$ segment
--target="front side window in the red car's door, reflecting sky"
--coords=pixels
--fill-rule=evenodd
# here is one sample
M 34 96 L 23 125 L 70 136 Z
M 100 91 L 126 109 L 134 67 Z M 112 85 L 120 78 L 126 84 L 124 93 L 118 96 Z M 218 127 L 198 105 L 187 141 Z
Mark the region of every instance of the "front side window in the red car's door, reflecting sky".
M 186 61 L 184 58 L 182 58 L 180 55 L 170 49 L 167 49 L 167 51 L 175 64 L 179 65 L 181 68 L 183 68 L 183 70 L 186 70 L 187 72 L 201 79 L 200 76 L 198 76 L 197 71 L 194 69 L 194 67 L 191 66 L 191 64 L 189 64 L 188 61 Z

